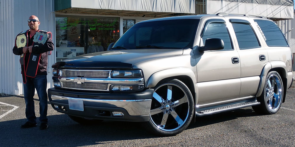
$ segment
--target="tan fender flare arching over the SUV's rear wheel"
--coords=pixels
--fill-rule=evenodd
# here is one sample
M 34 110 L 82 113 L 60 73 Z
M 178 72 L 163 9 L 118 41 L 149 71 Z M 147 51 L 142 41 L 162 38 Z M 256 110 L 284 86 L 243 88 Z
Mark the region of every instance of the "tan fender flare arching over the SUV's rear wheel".
M 263 69 L 261 71 L 261 75 L 260 75 L 260 85 L 259 85 L 259 89 L 258 89 L 258 92 L 256 94 L 256 97 L 259 97 L 262 94 L 264 84 L 265 84 L 265 80 L 266 80 L 266 76 L 267 76 L 268 72 L 271 69 L 274 69 L 274 68 L 284 68 L 286 70 L 286 64 L 284 62 L 281 62 L 281 61 L 271 61 L 271 62 L 268 62 L 263 67 Z M 286 74 L 287 74 L 287 72 L 283 71 L 283 75 L 280 75 L 281 78 L 286 78 L 287 77 Z

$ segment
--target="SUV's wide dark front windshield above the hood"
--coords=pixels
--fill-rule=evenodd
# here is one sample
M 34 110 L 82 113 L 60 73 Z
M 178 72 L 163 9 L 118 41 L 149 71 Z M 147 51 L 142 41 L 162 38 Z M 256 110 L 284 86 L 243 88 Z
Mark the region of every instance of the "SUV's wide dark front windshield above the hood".
M 192 48 L 199 19 L 176 19 L 138 23 L 112 49 Z

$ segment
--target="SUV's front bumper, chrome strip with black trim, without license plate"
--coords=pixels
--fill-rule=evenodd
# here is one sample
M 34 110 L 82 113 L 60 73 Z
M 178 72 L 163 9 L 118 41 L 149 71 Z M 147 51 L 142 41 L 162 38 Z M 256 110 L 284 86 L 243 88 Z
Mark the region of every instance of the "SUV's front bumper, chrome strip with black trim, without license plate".
M 89 93 L 58 88 L 48 89 L 48 99 L 56 111 L 103 120 L 148 121 L 152 97 L 153 89 L 139 93 Z M 83 100 L 84 110 L 69 109 L 69 98 Z M 60 107 L 55 108 L 54 105 Z M 112 112 L 123 112 L 124 116 L 114 116 Z

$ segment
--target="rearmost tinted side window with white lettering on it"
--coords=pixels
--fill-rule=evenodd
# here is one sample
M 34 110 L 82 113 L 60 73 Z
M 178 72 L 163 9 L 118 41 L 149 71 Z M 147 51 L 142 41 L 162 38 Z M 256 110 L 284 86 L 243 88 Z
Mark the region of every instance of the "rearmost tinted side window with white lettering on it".
M 268 46 L 288 46 L 285 36 L 272 21 L 254 20 Z

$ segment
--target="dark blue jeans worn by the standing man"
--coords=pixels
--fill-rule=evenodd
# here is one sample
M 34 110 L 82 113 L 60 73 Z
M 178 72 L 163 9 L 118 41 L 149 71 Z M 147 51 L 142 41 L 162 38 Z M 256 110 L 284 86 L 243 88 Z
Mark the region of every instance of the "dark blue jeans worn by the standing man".
M 24 84 L 24 100 L 26 102 L 26 117 L 29 122 L 36 123 L 34 95 L 35 88 L 39 97 L 40 118 L 41 122 L 47 123 L 47 75 L 37 75 L 35 78 L 27 78 Z

